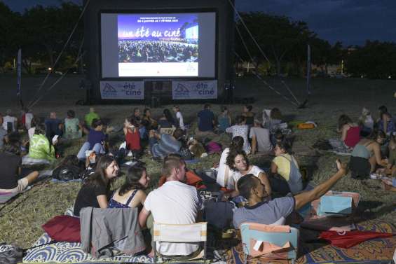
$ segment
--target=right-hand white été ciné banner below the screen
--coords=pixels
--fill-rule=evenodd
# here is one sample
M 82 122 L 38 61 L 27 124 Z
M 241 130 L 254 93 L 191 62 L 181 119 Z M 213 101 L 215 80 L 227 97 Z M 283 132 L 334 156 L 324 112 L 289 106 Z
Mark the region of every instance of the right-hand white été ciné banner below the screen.
M 172 99 L 217 99 L 217 81 L 173 81 Z

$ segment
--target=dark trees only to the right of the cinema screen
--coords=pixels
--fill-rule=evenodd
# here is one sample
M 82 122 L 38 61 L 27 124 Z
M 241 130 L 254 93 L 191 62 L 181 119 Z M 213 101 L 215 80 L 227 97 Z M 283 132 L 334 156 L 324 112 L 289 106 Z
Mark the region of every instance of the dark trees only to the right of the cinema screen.
M 311 62 L 322 76 L 328 74 L 328 67 L 339 65 L 341 70 L 342 64 L 349 76 L 396 78 L 396 43 L 367 41 L 364 46 L 344 47 L 338 41 L 331 45 L 303 21 L 261 12 L 240 15 L 242 19 L 235 23 L 235 62 L 252 62 L 260 74 L 304 76 L 309 44 Z

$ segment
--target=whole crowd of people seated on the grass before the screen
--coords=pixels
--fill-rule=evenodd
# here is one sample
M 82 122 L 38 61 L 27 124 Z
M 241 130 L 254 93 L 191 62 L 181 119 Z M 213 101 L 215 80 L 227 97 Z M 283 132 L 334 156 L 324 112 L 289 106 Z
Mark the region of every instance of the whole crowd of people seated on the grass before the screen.
M 272 111 L 271 118 L 264 124 L 258 118 L 254 118 L 251 106 L 245 106 L 243 114 L 237 116 L 235 124 L 232 124 L 227 109 L 223 108 L 220 117 L 228 123 L 224 122 L 224 130 L 221 131 L 216 130 L 219 120 L 216 120 L 210 104 L 205 104 L 204 109 L 197 115 L 198 132 L 205 135 L 219 132 L 230 134 L 231 144 L 224 148 L 219 156 L 214 181 L 219 189 L 224 190 L 224 201 L 238 204 L 233 214 L 235 229 L 245 222 L 279 225 L 291 223 L 292 214 L 325 195 L 348 172 L 346 164 L 336 160 L 337 172 L 333 176 L 311 190 L 304 190 L 299 161 L 289 142 L 278 131 L 275 133 L 274 144 L 271 143 L 271 127 L 282 123 L 279 109 Z M 84 175 L 81 176 L 83 183 L 74 203 L 74 216 L 80 216 L 81 209 L 85 207 L 137 208 L 140 228 L 153 237 L 154 222 L 184 225 L 203 221 L 204 216 L 203 201 L 197 187 L 205 188 L 203 181 L 207 179 L 204 175 L 187 172 L 186 160 L 191 158 L 190 155 L 186 155 L 186 151 L 189 151 L 186 146 L 188 126 L 184 123 L 179 106 L 174 106 L 173 112 L 175 116 L 169 109 L 165 109 L 161 118 L 155 120 L 150 109 L 144 109 L 143 116 L 140 109 L 133 109 L 123 124 L 125 143 L 114 153 L 109 146 L 106 125 L 93 108 L 85 116 L 84 123 L 76 118 L 72 110 L 67 112 L 64 120 L 58 119 L 56 113 L 51 112 L 44 122 L 34 116 L 27 117 L 28 112 L 25 111 L 23 127 L 25 132 L 33 131 L 27 143 L 28 151 L 26 145 L 25 152 L 27 157 L 34 160 L 54 162 L 58 158 L 58 145 L 62 145 L 62 140 L 74 140 L 86 135 L 86 141 L 82 143 L 78 153 L 64 158 L 53 172 L 53 177 L 59 179 L 75 179 L 78 175 Z M 388 136 L 385 132 L 392 125 L 386 119 L 387 115 L 381 112 L 378 123 L 371 128 L 369 122 L 366 122 L 368 116 L 369 111 L 364 110 L 364 118 L 359 124 L 353 123 L 346 115 L 339 118 L 341 139 L 346 146 L 353 148 L 349 162 L 351 175 L 355 179 L 367 179 L 372 172 L 394 176 L 396 139 L 392 131 Z M 252 120 L 249 125 L 246 124 L 247 118 Z M 0 116 L 0 125 L 3 120 Z M 26 120 L 29 120 L 29 126 L 26 125 Z M 383 127 L 384 124 L 387 125 Z M 363 125 L 371 128 L 367 137 L 360 134 Z M 18 130 L 18 119 L 15 126 L 15 130 Z M 12 134 L 10 127 L 7 126 L 8 131 L 3 126 L 0 127 L 0 137 L 4 134 L 4 139 L 1 139 L 4 145 L 3 152 L 0 152 L 0 169 L 5 175 L 4 179 L 0 180 L 0 193 L 19 193 L 39 175 L 36 171 L 22 173 L 20 168 L 24 146 L 19 137 Z M 164 129 L 172 130 L 165 132 Z M 144 141 L 147 141 L 147 146 L 144 145 Z M 385 142 L 388 142 L 386 155 L 389 158 L 381 151 L 381 145 Z M 158 183 L 159 187 L 149 193 L 146 191 L 151 185 L 151 176 L 146 167 L 137 162 L 126 170 L 121 187 L 111 190 L 111 183 L 119 176 L 123 162 L 119 159 L 118 153 L 130 152 L 133 158 L 139 159 L 145 155 L 144 148 L 147 148 L 155 160 L 161 160 L 162 177 Z M 252 158 L 248 157 L 250 153 L 270 151 L 275 158 L 268 160 L 271 162 L 269 171 L 252 164 Z M 385 190 L 392 191 L 396 188 L 395 181 L 384 180 L 383 185 Z M 147 248 L 152 247 L 151 240 Z M 198 256 L 201 250 L 194 243 L 172 242 L 158 243 L 156 249 L 164 256 L 177 256 L 181 260 Z M 153 256 L 152 250 L 147 253 Z

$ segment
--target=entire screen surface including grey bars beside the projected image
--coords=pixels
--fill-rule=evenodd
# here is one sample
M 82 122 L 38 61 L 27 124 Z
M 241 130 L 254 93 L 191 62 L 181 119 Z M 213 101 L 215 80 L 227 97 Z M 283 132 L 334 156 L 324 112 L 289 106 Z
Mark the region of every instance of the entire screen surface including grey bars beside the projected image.
M 214 78 L 216 13 L 101 14 L 102 78 Z

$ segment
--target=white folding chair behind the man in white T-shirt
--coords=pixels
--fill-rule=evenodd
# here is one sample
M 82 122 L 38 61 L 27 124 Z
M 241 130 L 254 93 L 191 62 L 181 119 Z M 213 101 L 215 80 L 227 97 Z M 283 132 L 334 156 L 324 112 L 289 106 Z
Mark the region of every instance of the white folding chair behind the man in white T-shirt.
M 206 262 L 206 237 L 207 237 L 207 223 L 192 223 L 189 225 L 173 225 L 167 223 L 156 223 L 154 222 L 154 263 L 157 263 L 158 257 L 163 258 L 163 260 L 172 260 L 172 263 L 177 262 L 177 258 L 172 258 L 172 256 L 163 256 L 160 252 L 157 252 L 158 242 L 175 242 L 175 243 L 191 243 L 191 242 L 203 242 L 203 252 L 196 257 L 190 259 L 179 260 L 179 263 L 185 263 L 189 261 L 196 261 L 202 258 L 203 263 Z M 159 249 L 161 249 L 161 243 L 159 244 Z M 161 250 L 159 250 L 161 251 Z M 203 253 L 203 254 L 202 254 Z

